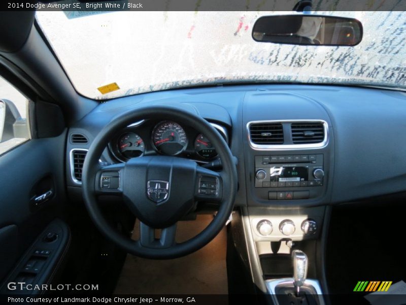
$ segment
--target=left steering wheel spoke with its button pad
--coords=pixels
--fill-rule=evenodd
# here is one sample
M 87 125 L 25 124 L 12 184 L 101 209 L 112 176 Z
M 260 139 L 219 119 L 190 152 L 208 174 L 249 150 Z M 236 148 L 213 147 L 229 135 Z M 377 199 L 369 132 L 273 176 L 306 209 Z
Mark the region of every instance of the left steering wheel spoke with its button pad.
M 121 195 L 124 184 L 125 164 L 113 164 L 101 167 L 95 175 L 96 195 Z

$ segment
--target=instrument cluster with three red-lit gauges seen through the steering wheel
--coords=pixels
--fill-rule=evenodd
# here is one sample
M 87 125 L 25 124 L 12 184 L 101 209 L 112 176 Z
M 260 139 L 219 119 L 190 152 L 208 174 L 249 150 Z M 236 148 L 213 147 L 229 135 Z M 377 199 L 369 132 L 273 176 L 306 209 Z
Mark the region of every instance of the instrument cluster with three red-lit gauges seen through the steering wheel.
M 228 142 L 227 129 L 211 125 Z M 121 130 L 109 143 L 110 153 L 117 161 L 149 155 L 178 156 L 207 163 L 218 155 L 210 139 L 190 126 L 171 120 L 142 120 Z

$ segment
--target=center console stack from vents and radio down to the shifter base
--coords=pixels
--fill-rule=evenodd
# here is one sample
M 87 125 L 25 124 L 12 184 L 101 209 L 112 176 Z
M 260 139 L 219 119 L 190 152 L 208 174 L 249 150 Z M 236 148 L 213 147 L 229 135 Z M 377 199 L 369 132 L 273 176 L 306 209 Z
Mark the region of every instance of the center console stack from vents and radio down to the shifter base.
M 294 94 L 248 93 L 242 124 L 247 191 L 242 223 L 253 282 L 264 293 L 286 294 L 288 303 L 306 299 L 321 304 L 312 295 L 325 292 L 319 283 L 324 278 L 320 243 L 332 189 L 329 116 L 317 102 Z M 298 251 L 306 254 L 310 279 L 301 293 L 294 293 L 298 282 L 292 254 Z M 278 297 L 273 300 L 281 303 Z

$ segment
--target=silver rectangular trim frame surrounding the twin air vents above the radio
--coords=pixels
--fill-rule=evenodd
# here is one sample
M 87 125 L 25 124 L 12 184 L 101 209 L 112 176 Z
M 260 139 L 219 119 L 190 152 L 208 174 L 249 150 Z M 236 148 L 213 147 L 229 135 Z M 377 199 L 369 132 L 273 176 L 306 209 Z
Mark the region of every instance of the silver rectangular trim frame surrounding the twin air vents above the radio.
M 324 140 L 320 143 L 312 144 L 255 144 L 251 140 L 250 126 L 252 124 L 264 124 L 264 123 L 321 123 L 324 128 Z M 247 134 L 248 141 L 250 142 L 251 148 L 255 150 L 294 150 L 294 149 L 314 149 L 323 148 L 328 144 L 328 124 L 322 119 L 279 119 L 279 120 L 259 120 L 250 121 L 247 123 Z

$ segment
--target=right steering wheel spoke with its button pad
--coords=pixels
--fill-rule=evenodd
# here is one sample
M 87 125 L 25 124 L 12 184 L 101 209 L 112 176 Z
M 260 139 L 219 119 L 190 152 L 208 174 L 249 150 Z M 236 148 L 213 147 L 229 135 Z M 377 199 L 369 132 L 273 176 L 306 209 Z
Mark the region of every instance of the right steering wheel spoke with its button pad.
M 198 167 L 194 197 L 198 201 L 221 202 L 223 198 L 221 173 Z

